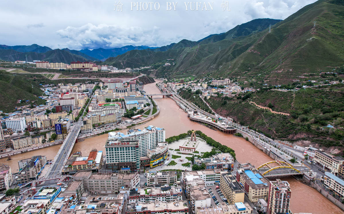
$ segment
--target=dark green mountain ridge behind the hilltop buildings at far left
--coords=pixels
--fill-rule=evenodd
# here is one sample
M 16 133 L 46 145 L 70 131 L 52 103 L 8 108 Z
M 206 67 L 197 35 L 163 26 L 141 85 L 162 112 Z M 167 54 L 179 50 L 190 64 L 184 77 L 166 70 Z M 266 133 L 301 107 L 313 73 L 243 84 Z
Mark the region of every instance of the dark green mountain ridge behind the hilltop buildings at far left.
M 70 64 L 73 61 L 89 61 L 86 58 L 72 54 L 71 52 L 61 50 L 61 49 L 55 49 L 51 51 L 47 51 L 45 53 L 36 53 L 36 52 L 18 52 L 12 49 L 0 49 L 0 57 L 2 60 L 6 61 L 16 61 L 16 60 L 26 60 L 26 57 L 28 57 L 28 62 L 32 62 L 33 60 L 40 60 L 40 61 L 48 61 L 51 63 L 56 62 L 63 62 Z

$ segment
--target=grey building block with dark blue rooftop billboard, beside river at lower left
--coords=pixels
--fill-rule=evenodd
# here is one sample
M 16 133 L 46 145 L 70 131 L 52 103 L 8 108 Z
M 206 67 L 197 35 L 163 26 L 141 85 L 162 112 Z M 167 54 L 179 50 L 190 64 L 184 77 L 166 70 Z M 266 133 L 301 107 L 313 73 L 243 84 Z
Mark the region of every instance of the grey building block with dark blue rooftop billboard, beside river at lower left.
M 45 156 L 33 156 L 30 159 L 18 161 L 19 168 L 22 167 L 22 169 L 19 171 L 18 175 L 15 176 L 15 183 L 17 185 L 24 184 L 31 180 L 38 179 L 38 176 L 45 167 L 45 164 Z

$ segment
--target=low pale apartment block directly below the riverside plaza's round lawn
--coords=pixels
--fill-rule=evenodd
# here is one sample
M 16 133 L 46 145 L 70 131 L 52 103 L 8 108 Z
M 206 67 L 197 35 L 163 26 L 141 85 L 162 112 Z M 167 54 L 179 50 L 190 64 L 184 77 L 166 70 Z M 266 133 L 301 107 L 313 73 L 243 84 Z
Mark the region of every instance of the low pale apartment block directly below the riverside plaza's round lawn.
M 177 171 L 147 173 L 147 186 L 177 183 Z

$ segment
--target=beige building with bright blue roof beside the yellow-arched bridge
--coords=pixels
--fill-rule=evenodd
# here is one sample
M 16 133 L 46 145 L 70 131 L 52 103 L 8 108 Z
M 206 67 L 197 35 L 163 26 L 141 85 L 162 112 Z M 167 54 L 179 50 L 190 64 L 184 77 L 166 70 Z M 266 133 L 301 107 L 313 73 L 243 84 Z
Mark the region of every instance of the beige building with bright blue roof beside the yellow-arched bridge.
M 248 199 L 255 203 L 258 199 L 268 200 L 270 182 L 257 170 L 238 170 L 236 180 L 245 190 Z

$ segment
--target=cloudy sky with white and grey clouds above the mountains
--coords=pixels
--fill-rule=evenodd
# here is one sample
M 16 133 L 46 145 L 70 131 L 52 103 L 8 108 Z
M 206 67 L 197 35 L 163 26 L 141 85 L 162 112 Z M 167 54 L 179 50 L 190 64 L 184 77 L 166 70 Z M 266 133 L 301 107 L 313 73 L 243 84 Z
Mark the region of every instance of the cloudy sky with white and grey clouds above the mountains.
M 138 2 L 120 0 L 2 0 L 0 44 L 31 45 L 80 50 L 125 45 L 163 46 L 182 39 L 197 41 L 209 34 L 222 33 L 252 19 L 286 19 L 315 0 L 212 0 L 213 10 L 198 11 L 194 3 L 186 10 L 184 1 Z M 160 9 L 155 10 L 154 4 Z M 228 2 L 230 11 L 223 11 Z M 208 6 L 208 1 L 205 1 Z M 187 3 L 186 3 L 187 4 Z M 152 10 L 150 10 L 152 5 Z M 132 7 L 133 6 L 133 7 Z M 148 10 L 146 9 L 148 6 Z M 202 11 L 202 8 L 204 9 Z M 132 9 L 132 10 L 131 10 Z M 139 9 L 139 10 L 137 10 Z M 157 8 L 158 9 L 158 8 Z

